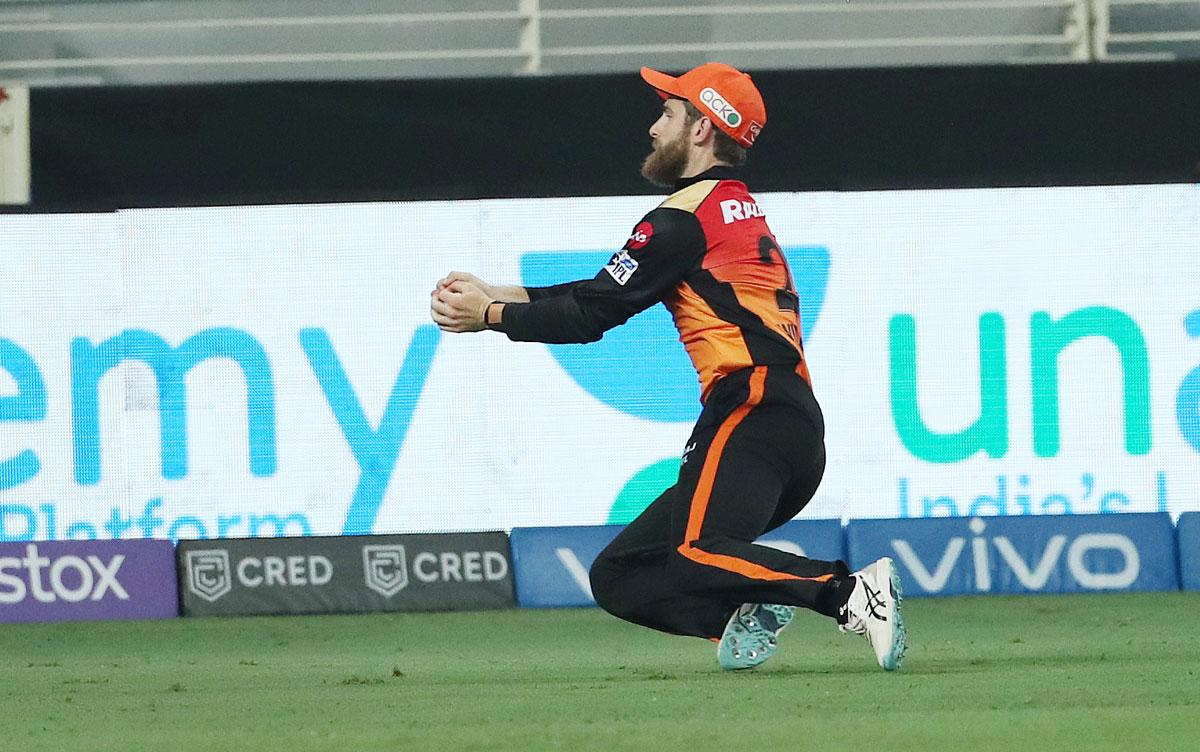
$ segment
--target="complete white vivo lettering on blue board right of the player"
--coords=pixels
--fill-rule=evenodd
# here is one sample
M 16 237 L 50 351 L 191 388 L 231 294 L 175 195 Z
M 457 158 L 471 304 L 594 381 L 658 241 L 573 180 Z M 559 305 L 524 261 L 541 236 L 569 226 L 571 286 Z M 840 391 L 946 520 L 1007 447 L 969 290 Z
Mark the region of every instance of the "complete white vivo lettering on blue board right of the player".
M 1000 571 L 1001 563 L 1028 590 L 1044 589 L 1063 557 L 1067 560 L 1067 572 L 1081 588 L 1087 590 L 1128 588 L 1141 573 L 1141 557 L 1138 554 L 1138 547 L 1132 540 L 1118 533 L 1088 533 L 1074 539 L 1066 535 L 1054 535 L 1046 541 L 1045 548 L 1040 553 L 1031 552 L 1033 555 L 1026 559 L 1007 536 L 985 537 L 983 534 L 986 528 L 986 523 L 978 517 L 970 523 L 973 534 L 970 545 L 974 568 L 974 589 L 979 592 L 991 591 L 992 572 Z M 947 541 L 941 558 L 932 568 L 922 561 L 907 541 L 893 539 L 890 543 L 896 558 L 907 567 L 918 585 L 928 592 L 941 592 L 962 558 L 967 539 L 955 536 Z M 1121 559 L 1120 568 L 1117 571 L 1093 571 L 1086 559 L 1090 552 L 1106 552 L 1109 558 L 1112 554 L 1118 555 Z M 994 563 L 997 565 L 996 570 L 992 568 Z

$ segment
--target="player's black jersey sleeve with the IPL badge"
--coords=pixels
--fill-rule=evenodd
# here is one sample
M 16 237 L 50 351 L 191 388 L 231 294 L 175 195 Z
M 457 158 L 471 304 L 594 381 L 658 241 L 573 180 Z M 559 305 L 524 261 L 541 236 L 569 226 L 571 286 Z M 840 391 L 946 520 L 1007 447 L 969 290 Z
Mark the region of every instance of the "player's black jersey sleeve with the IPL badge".
M 661 301 L 704 255 L 704 234 L 689 211 L 655 209 L 595 278 L 562 294 L 506 303 L 499 324 L 517 342 L 595 342 Z

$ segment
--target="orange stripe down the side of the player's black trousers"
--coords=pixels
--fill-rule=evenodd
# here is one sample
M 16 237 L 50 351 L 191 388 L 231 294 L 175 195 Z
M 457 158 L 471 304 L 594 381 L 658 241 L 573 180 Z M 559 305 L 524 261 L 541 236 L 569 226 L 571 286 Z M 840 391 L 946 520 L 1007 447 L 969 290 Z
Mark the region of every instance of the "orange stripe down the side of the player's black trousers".
M 745 416 L 750 414 L 750 410 L 752 410 L 755 405 L 762 402 L 762 392 L 766 381 L 767 368 L 764 366 L 755 367 L 754 373 L 750 375 L 750 397 L 739 404 L 733 413 L 730 413 L 730 416 L 726 417 L 720 428 L 716 429 L 716 435 L 713 438 L 713 443 L 708 446 L 708 453 L 704 455 L 704 465 L 700 469 L 700 481 L 696 483 L 696 492 L 691 495 L 691 510 L 688 513 L 688 529 L 684 534 L 683 545 L 679 546 L 678 552 L 698 564 L 736 572 L 751 579 L 804 579 L 828 582 L 833 579 L 833 574 L 822 574 L 821 577 L 799 577 L 787 572 L 776 572 L 762 566 L 761 564 L 746 561 L 745 559 L 739 559 L 737 557 L 701 551 L 700 548 L 692 546 L 692 543 L 700 540 L 700 530 L 704 525 L 704 515 L 708 512 L 708 503 L 713 497 L 713 483 L 716 480 L 716 469 L 721 464 L 721 453 L 725 451 L 725 445 L 728 443 L 733 429 L 737 428 L 743 420 L 745 420 Z

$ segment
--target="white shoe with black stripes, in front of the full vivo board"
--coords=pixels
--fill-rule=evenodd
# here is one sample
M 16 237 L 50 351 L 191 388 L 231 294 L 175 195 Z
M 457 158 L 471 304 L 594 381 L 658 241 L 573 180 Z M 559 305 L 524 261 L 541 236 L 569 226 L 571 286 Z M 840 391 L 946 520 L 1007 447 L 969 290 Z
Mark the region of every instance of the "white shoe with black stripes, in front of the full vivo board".
M 845 622 L 838 628 L 864 636 L 884 670 L 900 668 L 908 645 L 900 613 L 904 600 L 900 572 L 895 563 L 883 557 L 851 577 L 854 578 L 854 590 L 841 607 L 840 615 Z

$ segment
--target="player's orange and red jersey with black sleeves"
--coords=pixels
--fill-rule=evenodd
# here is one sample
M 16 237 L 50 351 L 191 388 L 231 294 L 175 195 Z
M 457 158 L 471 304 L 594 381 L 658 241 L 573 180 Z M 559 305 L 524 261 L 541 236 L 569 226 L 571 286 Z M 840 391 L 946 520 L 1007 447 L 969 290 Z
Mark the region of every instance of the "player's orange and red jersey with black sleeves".
M 722 377 L 791 366 L 809 380 L 791 271 L 762 210 L 716 167 L 677 184 L 593 279 L 527 288 L 493 329 L 521 342 L 595 342 L 662 302 L 700 375 L 701 401 Z

